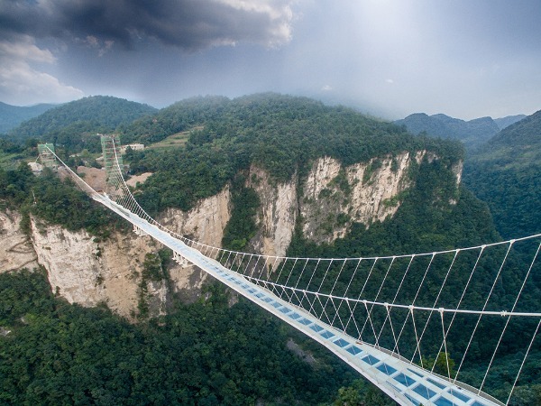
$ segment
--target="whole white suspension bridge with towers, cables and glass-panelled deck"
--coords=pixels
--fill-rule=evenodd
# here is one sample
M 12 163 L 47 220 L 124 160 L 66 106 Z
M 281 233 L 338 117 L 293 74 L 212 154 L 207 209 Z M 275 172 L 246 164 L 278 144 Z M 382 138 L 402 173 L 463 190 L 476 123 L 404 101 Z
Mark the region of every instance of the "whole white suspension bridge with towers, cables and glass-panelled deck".
M 452 250 L 361 258 L 250 254 L 201 244 L 149 216 L 124 181 L 118 141 L 102 136 L 97 202 L 293 328 L 326 346 L 400 405 L 512 404 L 520 374 L 541 373 L 541 235 Z M 56 165 L 56 163 L 55 163 Z M 513 355 L 513 370 L 509 365 Z M 531 358 L 531 357 L 530 357 Z M 506 361 L 507 360 L 507 361 Z M 494 388 L 491 382 L 505 382 Z M 488 390 L 487 390 L 488 389 Z M 488 392 L 498 393 L 498 399 Z M 504 395 L 501 395 L 504 393 Z

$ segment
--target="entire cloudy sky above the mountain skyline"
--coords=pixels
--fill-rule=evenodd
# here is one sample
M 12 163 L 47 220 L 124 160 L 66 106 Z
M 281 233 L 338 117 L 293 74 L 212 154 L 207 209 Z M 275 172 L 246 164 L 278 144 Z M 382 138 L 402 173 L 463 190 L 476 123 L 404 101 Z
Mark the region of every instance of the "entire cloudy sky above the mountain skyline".
M 0 101 L 307 96 L 399 119 L 541 109 L 539 0 L 0 0 Z

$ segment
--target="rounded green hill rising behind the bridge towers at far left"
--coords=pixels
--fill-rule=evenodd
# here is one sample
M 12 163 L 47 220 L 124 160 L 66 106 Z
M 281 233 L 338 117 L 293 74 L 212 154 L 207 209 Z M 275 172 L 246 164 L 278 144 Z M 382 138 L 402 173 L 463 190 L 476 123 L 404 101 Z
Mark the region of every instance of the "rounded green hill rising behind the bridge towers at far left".
M 123 98 L 85 97 L 51 108 L 14 128 L 8 135 L 16 142 L 37 138 L 64 145 L 71 151 L 81 148 L 99 151 L 96 133 L 113 132 L 121 125 L 129 125 L 156 111 L 154 107 Z

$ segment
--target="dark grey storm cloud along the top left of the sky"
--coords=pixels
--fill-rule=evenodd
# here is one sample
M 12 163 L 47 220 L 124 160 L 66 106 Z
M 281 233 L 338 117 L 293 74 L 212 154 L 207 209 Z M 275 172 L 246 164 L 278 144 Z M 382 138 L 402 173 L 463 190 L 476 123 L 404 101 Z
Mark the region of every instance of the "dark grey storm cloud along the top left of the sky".
M 145 38 L 187 51 L 289 41 L 285 0 L 0 0 L 0 35 L 122 43 Z

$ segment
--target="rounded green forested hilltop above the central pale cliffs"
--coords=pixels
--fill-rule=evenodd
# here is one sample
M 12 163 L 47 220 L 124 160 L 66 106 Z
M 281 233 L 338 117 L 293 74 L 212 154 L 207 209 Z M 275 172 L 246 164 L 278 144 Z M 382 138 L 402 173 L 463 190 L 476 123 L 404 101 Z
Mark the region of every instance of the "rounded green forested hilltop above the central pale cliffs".
M 127 156 L 133 173 L 156 172 L 139 196 L 151 211 L 188 209 L 252 163 L 269 171 L 274 180 L 285 181 L 296 171 L 306 174 L 322 156 L 344 165 L 419 149 L 434 152 L 445 162 L 463 158 L 458 143 L 414 136 L 345 107 L 275 94 L 191 99 L 135 122 L 121 139 L 156 142 L 190 126 L 194 130 L 183 149 Z

